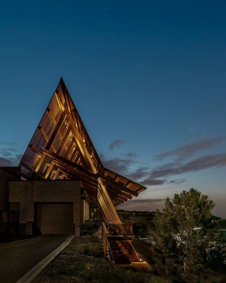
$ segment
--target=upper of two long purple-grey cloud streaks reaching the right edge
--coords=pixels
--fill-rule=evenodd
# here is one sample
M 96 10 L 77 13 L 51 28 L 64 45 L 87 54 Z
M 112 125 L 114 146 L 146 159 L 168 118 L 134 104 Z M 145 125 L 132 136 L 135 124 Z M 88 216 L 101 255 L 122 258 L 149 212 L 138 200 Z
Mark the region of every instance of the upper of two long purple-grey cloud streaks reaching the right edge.
M 197 153 L 198 151 L 202 151 L 204 149 L 214 147 L 219 143 L 221 143 L 222 141 L 224 141 L 225 139 L 226 139 L 225 136 L 213 138 L 213 139 L 198 138 L 195 141 L 178 146 L 175 150 L 166 151 L 159 155 L 156 155 L 155 160 L 163 160 L 168 156 L 176 156 L 177 157 L 176 160 L 181 161 L 187 158 L 188 156 Z

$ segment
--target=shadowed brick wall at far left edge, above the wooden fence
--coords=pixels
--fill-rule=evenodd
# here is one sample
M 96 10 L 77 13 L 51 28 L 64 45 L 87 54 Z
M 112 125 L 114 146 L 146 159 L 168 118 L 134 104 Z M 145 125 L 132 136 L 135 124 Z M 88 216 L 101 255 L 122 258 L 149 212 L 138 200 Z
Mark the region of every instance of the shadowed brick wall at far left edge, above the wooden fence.
M 15 167 L 16 170 L 16 167 Z M 15 171 L 12 170 L 12 171 Z M 7 181 L 16 181 L 18 177 L 7 173 L 6 171 L 0 168 L 0 211 L 6 211 L 6 203 L 8 202 L 8 182 Z

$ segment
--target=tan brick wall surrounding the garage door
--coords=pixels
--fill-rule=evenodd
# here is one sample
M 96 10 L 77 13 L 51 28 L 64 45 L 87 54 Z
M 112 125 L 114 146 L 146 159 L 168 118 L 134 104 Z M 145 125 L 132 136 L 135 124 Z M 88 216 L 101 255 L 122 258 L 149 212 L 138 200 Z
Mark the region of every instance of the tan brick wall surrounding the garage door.
M 9 182 L 9 201 L 20 203 L 19 222 L 21 231 L 25 229 L 26 233 L 31 233 L 31 223 L 34 223 L 34 202 L 72 202 L 74 233 L 79 235 L 80 188 L 80 181 L 74 180 Z

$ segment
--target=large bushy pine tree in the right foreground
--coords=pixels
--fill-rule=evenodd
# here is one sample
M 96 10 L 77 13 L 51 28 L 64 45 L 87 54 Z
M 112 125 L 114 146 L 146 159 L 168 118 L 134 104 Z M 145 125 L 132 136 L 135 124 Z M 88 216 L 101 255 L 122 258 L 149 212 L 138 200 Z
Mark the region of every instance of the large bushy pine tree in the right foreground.
M 163 213 L 155 217 L 156 270 L 165 276 L 179 275 L 183 281 L 196 273 L 205 248 L 204 222 L 214 207 L 208 196 L 191 188 L 165 201 Z

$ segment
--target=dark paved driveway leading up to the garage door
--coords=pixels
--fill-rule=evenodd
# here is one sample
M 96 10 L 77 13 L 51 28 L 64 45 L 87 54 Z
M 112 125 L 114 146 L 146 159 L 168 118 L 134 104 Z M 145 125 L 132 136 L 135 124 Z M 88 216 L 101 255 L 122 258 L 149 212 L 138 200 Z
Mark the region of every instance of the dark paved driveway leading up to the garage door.
M 42 234 L 36 238 L 0 244 L 0 282 L 15 283 L 68 237 Z

